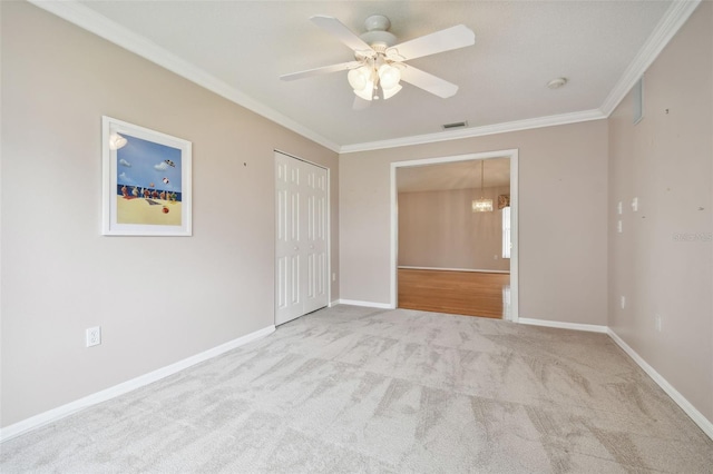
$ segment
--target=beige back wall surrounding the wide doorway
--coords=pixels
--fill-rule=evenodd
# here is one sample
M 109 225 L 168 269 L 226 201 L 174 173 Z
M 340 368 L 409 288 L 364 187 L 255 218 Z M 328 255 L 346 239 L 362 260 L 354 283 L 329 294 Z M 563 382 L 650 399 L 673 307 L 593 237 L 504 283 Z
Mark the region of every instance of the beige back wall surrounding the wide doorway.
M 606 120 L 341 155 L 341 297 L 389 304 L 391 162 L 512 148 L 519 316 L 605 325 Z

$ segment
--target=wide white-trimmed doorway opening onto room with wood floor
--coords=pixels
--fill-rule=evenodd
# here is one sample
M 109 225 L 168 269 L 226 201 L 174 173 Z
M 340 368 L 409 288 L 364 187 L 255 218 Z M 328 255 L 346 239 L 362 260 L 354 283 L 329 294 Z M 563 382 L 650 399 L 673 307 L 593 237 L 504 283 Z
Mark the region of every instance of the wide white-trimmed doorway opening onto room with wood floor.
M 518 320 L 517 158 L 499 150 L 391 164 L 391 307 Z M 494 210 L 472 211 L 484 197 Z

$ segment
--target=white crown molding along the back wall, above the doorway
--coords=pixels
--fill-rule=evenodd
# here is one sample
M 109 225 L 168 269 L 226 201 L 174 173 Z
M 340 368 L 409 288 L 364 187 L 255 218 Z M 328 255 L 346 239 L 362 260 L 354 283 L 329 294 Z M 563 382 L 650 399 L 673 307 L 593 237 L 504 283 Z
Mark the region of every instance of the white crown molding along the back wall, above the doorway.
M 433 144 L 436 141 L 459 140 L 461 138 L 482 137 L 486 135 L 506 134 L 510 131 L 577 124 L 580 121 L 600 120 L 605 118 L 606 116 L 602 113 L 599 109 L 584 110 L 580 112 L 560 113 L 557 116 L 547 116 L 504 124 L 486 125 L 482 127 L 461 128 L 458 130 L 440 131 L 437 134 L 417 135 L 412 137 L 371 141 L 367 144 L 344 145 L 340 148 L 340 154 L 353 154 L 358 151 L 372 151 L 384 148 L 408 147 L 411 145 Z

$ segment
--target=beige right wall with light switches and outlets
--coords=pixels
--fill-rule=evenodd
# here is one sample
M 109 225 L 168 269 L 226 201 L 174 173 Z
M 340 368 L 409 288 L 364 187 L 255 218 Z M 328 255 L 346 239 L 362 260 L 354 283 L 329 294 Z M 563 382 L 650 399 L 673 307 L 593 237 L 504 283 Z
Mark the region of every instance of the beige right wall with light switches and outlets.
M 712 31 L 703 2 L 646 71 L 644 119 L 633 125 L 631 95 L 609 118 L 608 325 L 710 421 Z

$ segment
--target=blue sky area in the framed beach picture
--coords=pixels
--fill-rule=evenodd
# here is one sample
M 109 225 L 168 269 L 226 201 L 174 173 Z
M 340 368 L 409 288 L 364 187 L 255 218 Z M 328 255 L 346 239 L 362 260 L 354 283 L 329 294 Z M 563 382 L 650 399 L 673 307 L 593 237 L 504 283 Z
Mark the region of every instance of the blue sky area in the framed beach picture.
M 117 150 L 118 185 L 180 192 L 180 149 L 121 136 L 127 144 Z

